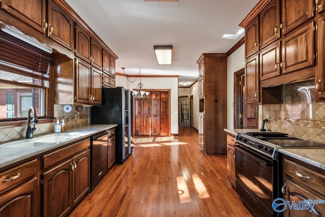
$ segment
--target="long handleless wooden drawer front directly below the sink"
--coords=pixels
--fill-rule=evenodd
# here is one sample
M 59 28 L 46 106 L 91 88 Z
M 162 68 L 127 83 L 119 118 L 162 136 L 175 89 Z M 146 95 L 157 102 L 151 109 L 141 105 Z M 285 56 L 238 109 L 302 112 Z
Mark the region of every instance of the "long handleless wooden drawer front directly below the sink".
M 41 157 L 43 165 L 42 168 L 46 169 L 64 159 L 67 159 L 74 154 L 78 153 L 79 151 L 82 151 L 86 148 L 90 147 L 90 140 L 84 140 L 77 144 L 70 145 L 68 147 L 61 148 L 59 150 L 56 150 L 52 153 L 46 154 Z

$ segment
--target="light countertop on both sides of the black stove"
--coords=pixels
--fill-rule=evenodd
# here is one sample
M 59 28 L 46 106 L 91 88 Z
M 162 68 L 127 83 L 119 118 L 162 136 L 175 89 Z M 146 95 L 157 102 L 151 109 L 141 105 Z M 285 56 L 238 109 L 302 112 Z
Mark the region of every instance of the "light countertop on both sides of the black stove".
M 231 134 L 260 132 L 258 129 L 224 129 Z M 297 160 L 311 164 L 315 167 L 325 170 L 325 148 L 324 147 L 302 147 L 302 148 L 279 148 L 280 153 L 293 157 Z

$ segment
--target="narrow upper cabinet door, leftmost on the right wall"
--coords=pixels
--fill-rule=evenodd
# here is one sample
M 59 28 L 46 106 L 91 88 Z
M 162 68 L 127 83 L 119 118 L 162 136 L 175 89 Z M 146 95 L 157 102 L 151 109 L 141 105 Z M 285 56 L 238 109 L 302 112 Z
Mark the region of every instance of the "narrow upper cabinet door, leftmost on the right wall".
M 245 28 L 245 57 L 259 50 L 259 18 L 255 17 Z

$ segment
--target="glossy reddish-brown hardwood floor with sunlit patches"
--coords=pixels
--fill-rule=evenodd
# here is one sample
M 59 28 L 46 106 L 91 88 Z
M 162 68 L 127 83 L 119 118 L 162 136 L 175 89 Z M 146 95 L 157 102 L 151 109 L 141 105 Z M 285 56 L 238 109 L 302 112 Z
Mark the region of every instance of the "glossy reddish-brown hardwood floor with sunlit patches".
M 226 155 L 205 155 L 197 131 L 145 138 L 70 216 L 251 216 L 228 183 Z

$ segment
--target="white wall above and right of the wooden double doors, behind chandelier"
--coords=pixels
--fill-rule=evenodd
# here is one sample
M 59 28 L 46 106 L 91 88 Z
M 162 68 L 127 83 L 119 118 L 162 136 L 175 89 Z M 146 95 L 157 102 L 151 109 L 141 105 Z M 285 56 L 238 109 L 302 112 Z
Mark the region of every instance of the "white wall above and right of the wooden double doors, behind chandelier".
M 124 76 L 116 76 L 116 86 L 123 86 L 127 89 L 136 89 L 140 79 L 131 83 Z M 134 80 L 131 78 L 130 80 Z M 145 89 L 170 89 L 171 90 L 171 134 L 178 134 L 178 78 L 141 78 Z

